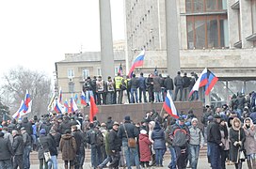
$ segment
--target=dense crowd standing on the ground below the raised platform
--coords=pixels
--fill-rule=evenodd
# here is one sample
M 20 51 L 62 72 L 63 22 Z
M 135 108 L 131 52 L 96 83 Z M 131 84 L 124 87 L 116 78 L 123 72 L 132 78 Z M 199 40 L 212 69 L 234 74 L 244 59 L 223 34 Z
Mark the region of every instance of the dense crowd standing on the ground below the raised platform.
M 240 169 L 243 161 L 247 161 L 249 169 L 255 169 L 256 94 L 251 92 L 248 96 L 234 95 L 230 104 L 222 107 L 207 105 L 200 116 L 194 115 L 193 110 L 180 112 L 178 119 L 152 110 L 136 123 L 130 115 L 121 122 L 109 116 L 100 123 L 96 116 L 89 121 L 88 115 L 81 113 L 3 121 L 0 168 L 30 168 L 30 152 L 36 151 L 40 169 L 58 168 L 58 154 L 65 169 L 81 169 L 88 148 L 92 168 L 164 167 L 168 150 L 171 158 L 165 159 L 165 167 L 196 169 L 200 148 L 207 146 L 213 169 L 225 169 L 226 164 Z

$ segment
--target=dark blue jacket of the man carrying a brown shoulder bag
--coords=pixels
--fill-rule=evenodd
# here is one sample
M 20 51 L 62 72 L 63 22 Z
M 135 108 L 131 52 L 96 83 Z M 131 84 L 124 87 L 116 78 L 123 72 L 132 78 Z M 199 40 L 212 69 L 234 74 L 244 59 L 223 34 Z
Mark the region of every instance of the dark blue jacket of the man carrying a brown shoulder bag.
M 138 136 L 139 131 L 136 129 L 136 126 L 134 124 L 126 121 L 123 125 L 125 125 L 125 130 L 127 131 L 128 138 L 136 138 Z M 120 125 L 118 136 L 122 141 L 128 142 L 123 125 Z

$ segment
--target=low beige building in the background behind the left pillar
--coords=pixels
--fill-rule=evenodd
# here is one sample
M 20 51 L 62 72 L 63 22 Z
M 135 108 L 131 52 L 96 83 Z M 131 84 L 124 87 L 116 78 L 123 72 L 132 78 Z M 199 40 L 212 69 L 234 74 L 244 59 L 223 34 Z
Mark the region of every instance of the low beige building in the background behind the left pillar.
M 124 51 L 114 51 L 115 74 L 118 73 L 120 64 L 125 73 L 124 58 Z M 75 94 L 79 97 L 88 76 L 92 78 L 101 75 L 101 52 L 65 54 L 64 60 L 56 62 L 56 88 L 61 87 L 64 100 L 69 100 Z

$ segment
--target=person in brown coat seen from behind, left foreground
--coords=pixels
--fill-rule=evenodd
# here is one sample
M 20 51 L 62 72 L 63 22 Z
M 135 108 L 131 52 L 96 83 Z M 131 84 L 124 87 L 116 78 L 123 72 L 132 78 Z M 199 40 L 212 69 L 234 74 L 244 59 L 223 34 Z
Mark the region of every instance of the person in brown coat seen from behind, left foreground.
M 62 161 L 65 162 L 65 169 L 68 169 L 70 162 L 70 169 L 74 169 L 74 160 L 76 154 L 76 143 L 71 131 L 65 131 L 65 134 L 61 136 L 59 149 L 62 152 Z

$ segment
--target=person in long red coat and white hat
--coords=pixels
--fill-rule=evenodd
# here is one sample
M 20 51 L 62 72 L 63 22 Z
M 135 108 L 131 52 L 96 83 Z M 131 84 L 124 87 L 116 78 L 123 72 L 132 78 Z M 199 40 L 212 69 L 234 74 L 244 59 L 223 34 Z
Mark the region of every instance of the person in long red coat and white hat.
M 142 163 L 142 167 L 144 168 L 150 166 L 150 161 L 152 159 L 152 153 L 151 153 L 151 145 L 152 142 L 149 140 L 149 135 L 147 134 L 147 131 L 141 130 L 139 134 L 139 157 L 140 161 Z

